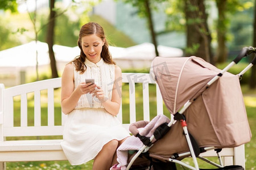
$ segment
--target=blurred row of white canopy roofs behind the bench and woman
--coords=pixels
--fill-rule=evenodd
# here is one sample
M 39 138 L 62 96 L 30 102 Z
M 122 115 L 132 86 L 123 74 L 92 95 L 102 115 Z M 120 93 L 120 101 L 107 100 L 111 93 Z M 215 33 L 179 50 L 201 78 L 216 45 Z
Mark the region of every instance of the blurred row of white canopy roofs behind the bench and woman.
M 31 41 L 27 44 L 15 46 L 14 48 L 2 50 L 0 52 L 0 67 L 27 67 L 36 66 L 36 49 L 38 50 L 38 65 L 49 64 L 48 45 L 46 42 Z M 151 43 L 143 43 L 129 48 L 109 46 L 110 53 L 115 60 L 130 61 L 152 61 L 155 56 L 155 48 Z M 159 45 L 160 57 L 181 57 L 183 51 L 178 48 Z M 78 46 L 69 47 L 63 45 L 53 45 L 57 62 L 68 63 L 73 58 L 79 56 Z

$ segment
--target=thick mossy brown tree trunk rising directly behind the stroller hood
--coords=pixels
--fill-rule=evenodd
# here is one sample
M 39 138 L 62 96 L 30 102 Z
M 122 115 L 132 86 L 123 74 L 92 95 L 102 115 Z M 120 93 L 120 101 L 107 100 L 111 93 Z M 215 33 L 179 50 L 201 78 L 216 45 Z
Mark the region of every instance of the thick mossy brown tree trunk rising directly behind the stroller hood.
M 207 14 L 203 0 L 185 0 L 187 21 L 187 56 L 197 56 L 214 64 L 210 42 L 212 37 L 207 24 Z

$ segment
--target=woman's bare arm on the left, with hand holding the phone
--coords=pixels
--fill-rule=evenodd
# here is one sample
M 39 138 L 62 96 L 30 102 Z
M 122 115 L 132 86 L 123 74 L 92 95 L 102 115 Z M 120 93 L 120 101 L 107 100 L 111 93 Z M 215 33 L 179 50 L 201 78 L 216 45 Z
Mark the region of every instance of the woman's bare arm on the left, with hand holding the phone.
M 65 66 L 63 75 L 61 76 L 61 110 L 64 114 L 68 114 L 76 107 L 81 95 L 93 91 L 96 85 L 91 83 L 81 83 L 74 90 L 74 67 L 72 63 Z

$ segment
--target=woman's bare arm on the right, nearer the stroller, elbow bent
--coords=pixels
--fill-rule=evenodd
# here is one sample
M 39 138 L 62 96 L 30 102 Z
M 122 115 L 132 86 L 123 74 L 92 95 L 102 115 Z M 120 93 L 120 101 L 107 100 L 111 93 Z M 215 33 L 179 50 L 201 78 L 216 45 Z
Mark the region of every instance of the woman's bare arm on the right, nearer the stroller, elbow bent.
M 97 86 L 97 88 L 100 87 Z M 115 66 L 115 80 L 112 91 L 112 100 L 105 99 L 104 92 L 101 89 L 91 93 L 93 93 L 93 96 L 96 96 L 101 101 L 106 111 L 108 111 L 113 116 L 116 116 L 119 112 L 122 98 L 122 70 L 120 67 Z

